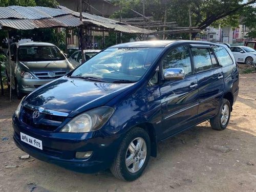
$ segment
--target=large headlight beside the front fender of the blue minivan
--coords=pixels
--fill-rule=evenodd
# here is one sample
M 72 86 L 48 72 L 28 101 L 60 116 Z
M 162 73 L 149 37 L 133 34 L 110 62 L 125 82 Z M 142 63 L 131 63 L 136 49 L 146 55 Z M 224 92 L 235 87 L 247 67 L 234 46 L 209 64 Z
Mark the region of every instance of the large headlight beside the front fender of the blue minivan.
M 100 106 L 99 108 L 82 113 L 73 118 L 60 130 L 60 132 L 87 133 L 96 131 L 110 119 L 113 113 L 113 108 L 110 108 L 109 106 Z

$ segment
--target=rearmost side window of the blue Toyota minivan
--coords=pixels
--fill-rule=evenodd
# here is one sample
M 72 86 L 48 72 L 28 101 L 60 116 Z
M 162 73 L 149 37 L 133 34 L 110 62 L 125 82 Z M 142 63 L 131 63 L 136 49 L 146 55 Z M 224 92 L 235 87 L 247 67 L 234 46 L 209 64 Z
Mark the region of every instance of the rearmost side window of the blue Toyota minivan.
M 221 66 L 228 66 L 233 64 L 233 60 L 231 59 L 230 55 L 228 54 L 227 50 L 221 46 L 214 46 L 212 49 L 219 60 Z

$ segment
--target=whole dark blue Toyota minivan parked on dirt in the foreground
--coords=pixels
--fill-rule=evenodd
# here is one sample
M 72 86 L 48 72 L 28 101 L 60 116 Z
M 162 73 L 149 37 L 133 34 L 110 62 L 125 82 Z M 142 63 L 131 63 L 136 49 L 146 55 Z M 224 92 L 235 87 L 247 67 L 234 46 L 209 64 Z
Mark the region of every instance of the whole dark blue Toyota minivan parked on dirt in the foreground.
M 140 177 L 157 142 L 203 121 L 224 130 L 238 97 L 231 51 L 201 41 L 110 47 L 26 96 L 14 141 L 31 156 L 84 173 Z

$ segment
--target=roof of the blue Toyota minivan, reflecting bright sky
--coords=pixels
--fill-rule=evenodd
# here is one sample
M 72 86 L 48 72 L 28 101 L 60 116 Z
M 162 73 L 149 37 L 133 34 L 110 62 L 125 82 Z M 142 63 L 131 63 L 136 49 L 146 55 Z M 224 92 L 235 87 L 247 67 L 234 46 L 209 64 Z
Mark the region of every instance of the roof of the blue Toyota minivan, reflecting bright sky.
M 125 44 L 119 44 L 112 46 L 110 48 L 129 48 L 129 47 L 137 47 L 137 48 L 146 48 L 146 47 L 156 47 L 156 48 L 164 48 L 171 44 L 181 44 L 187 42 L 188 44 L 204 44 L 204 45 L 217 45 L 208 41 L 197 41 L 197 40 L 147 40 L 147 41 L 135 41 L 135 42 L 126 42 Z

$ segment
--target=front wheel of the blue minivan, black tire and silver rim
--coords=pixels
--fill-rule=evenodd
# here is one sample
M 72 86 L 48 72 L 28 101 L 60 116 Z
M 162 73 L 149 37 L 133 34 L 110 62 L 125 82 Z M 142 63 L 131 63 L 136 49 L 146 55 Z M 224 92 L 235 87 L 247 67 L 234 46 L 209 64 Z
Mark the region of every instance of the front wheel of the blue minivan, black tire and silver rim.
M 124 136 L 110 170 L 119 179 L 134 181 L 143 173 L 150 154 L 150 137 L 145 130 L 134 127 Z

